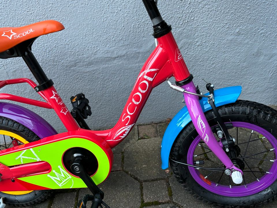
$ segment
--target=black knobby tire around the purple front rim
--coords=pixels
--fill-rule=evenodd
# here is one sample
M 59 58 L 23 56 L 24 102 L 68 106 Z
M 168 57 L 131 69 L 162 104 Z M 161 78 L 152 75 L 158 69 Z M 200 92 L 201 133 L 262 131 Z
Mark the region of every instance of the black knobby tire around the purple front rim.
M 275 139 L 277 138 L 277 111 L 260 103 L 238 100 L 217 108 L 224 122 L 239 121 L 248 122 L 266 129 Z M 216 125 L 212 111 L 206 112 L 205 116 L 210 126 Z M 177 136 L 170 153 L 170 158 L 176 161 L 187 162 L 187 154 L 193 138 L 198 136 L 192 122 L 188 124 Z M 266 190 L 257 194 L 243 197 L 227 197 L 215 194 L 199 185 L 187 166 L 177 164 L 170 160 L 171 169 L 179 183 L 185 190 L 203 202 L 219 207 L 258 207 L 269 203 L 277 197 L 277 180 Z M 274 173 L 277 174 L 277 173 Z

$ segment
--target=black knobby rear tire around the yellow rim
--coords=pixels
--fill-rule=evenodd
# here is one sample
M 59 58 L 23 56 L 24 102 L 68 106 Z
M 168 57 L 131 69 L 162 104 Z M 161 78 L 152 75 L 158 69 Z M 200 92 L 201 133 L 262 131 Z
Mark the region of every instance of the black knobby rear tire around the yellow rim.
M 28 142 L 40 140 L 38 135 L 18 122 L 0 116 L 0 130 L 15 133 Z M 0 198 L 5 197 L 4 203 L 15 206 L 30 206 L 45 201 L 52 195 L 51 190 L 35 190 L 28 194 L 12 195 L 0 192 Z

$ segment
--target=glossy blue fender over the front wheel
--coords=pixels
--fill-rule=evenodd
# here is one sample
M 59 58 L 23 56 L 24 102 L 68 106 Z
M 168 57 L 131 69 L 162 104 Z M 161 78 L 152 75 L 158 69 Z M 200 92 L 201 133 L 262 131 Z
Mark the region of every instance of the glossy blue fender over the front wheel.
M 214 91 L 215 105 L 221 106 L 229 103 L 234 103 L 237 101 L 240 93 L 242 92 L 241 86 L 221 88 Z M 205 94 L 208 95 L 209 93 Z M 208 103 L 207 98 L 202 98 L 200 101 L 203 112 L 207 112 L 212 109 L 211 105 Z M 162 148 L 161 148 L 161 158 L 162 158 L 162 169 L 168 168 L 169 154 L 171 147 L 176 137 L 179 135 L 181 130 L 191 122 L 190 115 L 188 114 L 187 107 L 183 107 L 171 120 L 164 136 L 162 138 Z

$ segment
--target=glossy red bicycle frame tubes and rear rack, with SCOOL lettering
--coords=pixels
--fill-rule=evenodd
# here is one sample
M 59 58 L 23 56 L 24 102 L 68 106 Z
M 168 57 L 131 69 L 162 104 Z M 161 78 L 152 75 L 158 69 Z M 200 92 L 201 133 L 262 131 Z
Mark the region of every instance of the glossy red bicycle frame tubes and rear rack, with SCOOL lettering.
M 136 123 L 153 88 L 172 76 L 174 76 L 177 81 L 184 80 L 190 76 L 173 34 L 170 32 L 158 38 L 158 43 L 158 46 L 143 65 L 115 127 L 104 131 L 92 131 L 103 138 L 103 140 L 106 140 L 111 148 L 119 144 L 128 135 Z M 32 80 L 21 78 L 1 81 L 0 88 L 5 85 L 24 82 L 28 83 L 33 88 L 36 86 L 35 82 Z M 38 93 L 46 102 L 4 93 L 0 93 L 0 99 L 54 109 L 68 131 L 80 129 L 54 86 Z

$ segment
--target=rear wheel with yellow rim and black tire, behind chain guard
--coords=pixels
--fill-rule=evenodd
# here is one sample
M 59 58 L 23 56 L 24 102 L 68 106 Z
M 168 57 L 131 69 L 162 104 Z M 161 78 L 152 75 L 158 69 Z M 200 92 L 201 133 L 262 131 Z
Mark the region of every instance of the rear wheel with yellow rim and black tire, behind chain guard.
M 9 118 L 0 117 L 0 150 L 34 142 L 40 138 L 30 129 Z M 0 198 L 9 205 L 29 206 L 40 203 L 51 196 L 49 190 L 0 192 Z

